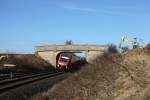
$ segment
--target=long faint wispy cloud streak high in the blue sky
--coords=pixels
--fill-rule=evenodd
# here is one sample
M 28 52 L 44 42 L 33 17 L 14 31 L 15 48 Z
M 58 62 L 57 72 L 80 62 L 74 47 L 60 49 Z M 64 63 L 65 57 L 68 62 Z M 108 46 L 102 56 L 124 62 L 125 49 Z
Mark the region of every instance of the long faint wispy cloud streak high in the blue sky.
M 106 15 L 135 15 L 137 13 L 143 13 L 139 9 L 128 8 L 128 7 L 108 7 L 106 8 L 90 8 L 90 7 L 79 7 L 73 4 L 62 4 L 61 8 L 73 11 L 80 11 L 85 13 L 100 13 Z M 140 11 L 140 12 L 139 12 Z

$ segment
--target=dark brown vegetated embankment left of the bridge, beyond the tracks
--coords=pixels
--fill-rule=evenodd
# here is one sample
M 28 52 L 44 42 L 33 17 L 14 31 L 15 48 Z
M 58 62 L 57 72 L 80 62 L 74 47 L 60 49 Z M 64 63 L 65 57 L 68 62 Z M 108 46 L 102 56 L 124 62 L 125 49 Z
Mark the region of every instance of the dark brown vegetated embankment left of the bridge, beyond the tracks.
M 38 71 L 49 71 L 53 67 L 33 54 L 9 54 L 8 58 L 3 59 L 3 64 L 15 64 L 16 67 L 11 68 L 12 71 L 18 72 L 38 72 Z

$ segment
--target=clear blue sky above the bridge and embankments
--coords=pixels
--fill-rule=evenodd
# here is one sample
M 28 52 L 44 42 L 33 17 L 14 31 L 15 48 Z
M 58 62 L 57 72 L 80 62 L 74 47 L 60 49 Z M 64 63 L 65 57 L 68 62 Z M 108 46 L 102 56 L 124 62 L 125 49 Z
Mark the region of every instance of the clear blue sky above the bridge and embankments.
M 0 52 L 34 46 L 118 44 L 122 35 L 150 42 L 149 0 L 0 0 Z

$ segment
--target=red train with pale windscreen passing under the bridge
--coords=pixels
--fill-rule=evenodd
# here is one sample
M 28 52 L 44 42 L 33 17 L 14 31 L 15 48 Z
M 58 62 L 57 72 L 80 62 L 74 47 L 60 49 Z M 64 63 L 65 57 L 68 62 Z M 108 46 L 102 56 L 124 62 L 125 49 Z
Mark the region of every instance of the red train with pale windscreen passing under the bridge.
M 73 53 L 60 53 L 56 61 L 56 67 L 61 69 L 67 69 L 70 68 L 72 63 L 78 60 L 80 60 L 80 58 Z

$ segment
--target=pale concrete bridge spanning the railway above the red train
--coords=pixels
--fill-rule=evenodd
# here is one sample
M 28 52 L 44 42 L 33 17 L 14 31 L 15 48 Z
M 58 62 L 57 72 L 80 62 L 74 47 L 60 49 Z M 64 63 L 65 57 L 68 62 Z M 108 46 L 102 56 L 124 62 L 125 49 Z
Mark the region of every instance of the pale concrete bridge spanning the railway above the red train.
M 87 62 L 91 63 L 97 56 L 108 51 L 108 45 L 45 45 L 37 46 L 38 56 L 56 66 L 57 55 L 62 52 L 84 53 Z

